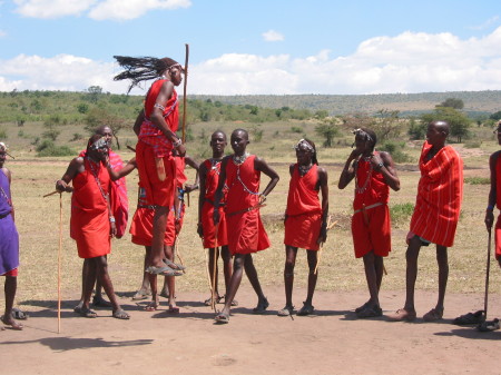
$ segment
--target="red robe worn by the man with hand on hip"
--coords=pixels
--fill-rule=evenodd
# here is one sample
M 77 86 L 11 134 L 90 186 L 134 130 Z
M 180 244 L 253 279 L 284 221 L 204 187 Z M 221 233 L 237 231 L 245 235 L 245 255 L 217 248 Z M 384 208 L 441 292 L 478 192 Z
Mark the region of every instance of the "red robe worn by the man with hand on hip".
M 240 213 L 258 204 L 261 171 L 254 169 L 255 156 L 252 155 L 240 166 L 236 166 L 232 158 L 226 165 L 226 185 L 228 196 L 226 203 L 226 224 L 228 231 L 228 247 L 232 254 L 250 254 L 269 247 L 269 239 L 261 220 L 258 209 Z M 254 193 L 248 193 L 246 188 Z

